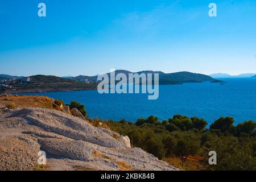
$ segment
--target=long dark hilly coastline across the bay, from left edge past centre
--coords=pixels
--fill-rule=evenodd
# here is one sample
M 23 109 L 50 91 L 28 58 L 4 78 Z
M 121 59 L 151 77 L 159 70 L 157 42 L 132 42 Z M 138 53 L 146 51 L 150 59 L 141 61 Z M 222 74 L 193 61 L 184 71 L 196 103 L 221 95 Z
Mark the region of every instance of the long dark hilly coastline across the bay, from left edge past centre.
M 129 71 L 117 70 L 115 74 L 123 73 L 129 75 Z M 191 73 L 191 72 L 176 72 L 163 73 L 158 71 L 141 71 L 141 73 L 159 73 L 160 85 L 183 84 L 192 82 L 222 82 L 210 76 Z M 110 73 L 107 73 L 110 76 Z M 17 77 L 18 78 L 18 77 Z M 153 77 L 154 78 L 154 77 Z M 88 90 L 97 89 L 97 76 L 77 76 L 71 78 L 63 78 L 57 76 L 35 75 L 30 76 L 30 81 L 16 82 L 11 84 L 11 88 L 3 88 L 0 92 L 55 92 L 55 91 L 71 91 L 71 90 Z

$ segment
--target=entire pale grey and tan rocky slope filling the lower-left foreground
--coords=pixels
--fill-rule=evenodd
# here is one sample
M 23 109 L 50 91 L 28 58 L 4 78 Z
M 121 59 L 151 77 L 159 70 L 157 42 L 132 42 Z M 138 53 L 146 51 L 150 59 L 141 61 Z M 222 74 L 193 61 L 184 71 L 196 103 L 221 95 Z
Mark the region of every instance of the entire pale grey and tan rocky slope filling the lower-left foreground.
M 38 169 L 39 151 L 46 152 L 48 170 L 177 170 L 130 148 L 129 138 L 85 119 L 48 108 L 2 105 L 0 170 Z

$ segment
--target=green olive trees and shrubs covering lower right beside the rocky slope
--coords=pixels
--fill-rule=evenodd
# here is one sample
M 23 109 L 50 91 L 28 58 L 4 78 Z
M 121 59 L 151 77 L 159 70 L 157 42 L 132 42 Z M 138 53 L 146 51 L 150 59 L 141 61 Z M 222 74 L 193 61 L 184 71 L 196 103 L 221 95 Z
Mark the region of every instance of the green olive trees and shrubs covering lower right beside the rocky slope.
M 104 123 L 110 129 L 129 136 L 134 147 L 141 147 L 175 167 L 256 170 L 256 123 L 253 121 L 234 126 L 233 118 L 219 118 L 209 129 L 204 119 L 182 115 L 175 115 L 168 121 L 158 121 L 151 115 L 147 119 L 138 119 L 136 123 L 125 119 Z M 217 152 L 217 165 L 209 165 L 209 151 Z M 191 162 L 191 158 L 200 160 Z M 176 159 L 180 162 L 177 163 Z

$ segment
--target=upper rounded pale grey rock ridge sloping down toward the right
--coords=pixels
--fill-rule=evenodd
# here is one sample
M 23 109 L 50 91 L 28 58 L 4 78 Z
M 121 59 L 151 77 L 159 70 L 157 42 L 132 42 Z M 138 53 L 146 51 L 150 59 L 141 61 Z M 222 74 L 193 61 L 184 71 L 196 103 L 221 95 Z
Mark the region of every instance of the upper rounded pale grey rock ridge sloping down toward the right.
M 85 140 L 105 147 L 122 146 L 116 139 L 107 133 L 102 133 L 102 130 L 90 125 L 89 122 L 60 111 L 30 108 L 22 109 L 19 113 L 27 113 L 23 115 L 23 118 L 30 125 L 38 126 L 70 139 Z

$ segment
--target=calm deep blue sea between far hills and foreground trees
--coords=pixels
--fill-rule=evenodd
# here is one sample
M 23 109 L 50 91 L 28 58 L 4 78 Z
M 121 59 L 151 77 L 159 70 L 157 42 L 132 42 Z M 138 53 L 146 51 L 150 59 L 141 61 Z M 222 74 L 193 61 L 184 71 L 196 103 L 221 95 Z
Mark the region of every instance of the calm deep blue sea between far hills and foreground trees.
M 155 115 L 160 120 L 175 114 L 200 117 L 212 123 L 222 116 L 234 117 L 236 123 L 256 121 L 256 79 L 225 78 L 224 85 L 208 82 L 183 85 L 160 85 L 158 100 L 147 94 L 98 94 L 97 90 L 28 93 L 84 104 L 89 117 L 136 121 Z

